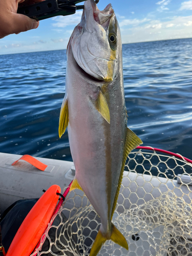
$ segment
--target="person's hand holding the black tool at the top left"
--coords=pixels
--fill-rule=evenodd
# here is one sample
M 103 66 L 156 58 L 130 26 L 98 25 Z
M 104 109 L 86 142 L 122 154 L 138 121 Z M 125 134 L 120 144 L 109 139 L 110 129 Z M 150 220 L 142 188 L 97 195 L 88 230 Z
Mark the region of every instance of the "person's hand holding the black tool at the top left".
M 18 4 L 33 4 L 44 0 L 0 0 L 0 38 L 10 34 L 36 29 L 39 25 L 35 19 L 18 14 Z

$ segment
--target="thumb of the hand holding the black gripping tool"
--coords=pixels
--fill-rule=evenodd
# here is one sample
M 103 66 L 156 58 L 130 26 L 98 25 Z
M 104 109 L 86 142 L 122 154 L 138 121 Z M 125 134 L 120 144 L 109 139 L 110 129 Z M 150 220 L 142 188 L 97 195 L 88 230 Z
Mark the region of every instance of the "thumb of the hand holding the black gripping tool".
M 26 15 L 12 13 L 12 24 L 10 34 L 18 34 L 20 32 L 28 31 L 30 29 L 36 29 L 39 25 L 35 19 L 29 18 Z

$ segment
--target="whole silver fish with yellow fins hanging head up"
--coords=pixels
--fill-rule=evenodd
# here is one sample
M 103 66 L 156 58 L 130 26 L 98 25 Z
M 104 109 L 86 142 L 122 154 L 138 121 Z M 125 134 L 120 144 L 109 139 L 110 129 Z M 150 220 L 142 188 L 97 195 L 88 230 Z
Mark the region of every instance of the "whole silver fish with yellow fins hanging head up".
M 101 220 L 90 256 L 106 240 L 128 250 L 112 217 L 126 158 L 142 141 L 127 127 L 121 35 L 111 4 L 100 11 L 94 0 L 84 2 L 70 37 L 59 137 L 67 127 L 76 170 L 70 190 L 81 189 Z

